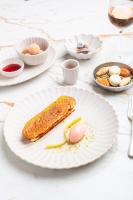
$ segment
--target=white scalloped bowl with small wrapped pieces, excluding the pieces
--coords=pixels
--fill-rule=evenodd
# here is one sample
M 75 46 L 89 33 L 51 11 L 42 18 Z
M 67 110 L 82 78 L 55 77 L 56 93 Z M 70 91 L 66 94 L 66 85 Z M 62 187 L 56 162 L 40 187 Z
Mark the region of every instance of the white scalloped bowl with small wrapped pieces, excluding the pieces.
M 76 47 L 78 43 L 88 44 L 89 52 L 87 54 L 77 53 Z M 101 49 L 102 41 L 90 34 L 80 34 L 66 40 L 65 47 L 67 52 L 77 59 L 90 59 Z

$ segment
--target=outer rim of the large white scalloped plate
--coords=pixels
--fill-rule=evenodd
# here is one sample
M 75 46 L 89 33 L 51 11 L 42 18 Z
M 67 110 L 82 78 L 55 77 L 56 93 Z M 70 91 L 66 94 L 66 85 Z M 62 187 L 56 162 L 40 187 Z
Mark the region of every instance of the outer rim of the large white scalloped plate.
M 97 96 L 98 98 L 100 98 L 101 100 L 103 100 L 104 102 L 106 102 L 106 104 L 110 107 L 110 109 L 112 110 L 112 113 L 114 114 L 114 117 L 115 117 L 115 120 L 116 120 L 116 129 L 117 129 L 117 133 L 116 133 L 116 135 L 114 135 L 114 139 L 113 139 L 113 141 L 112 141 L 112 143 L 110 143 L 110 145 L 108 145 L 108 148 L 104 151 L 104 153 L 102 153 L 101 155 L 99 155 L 99 156 L 97 156 L 96 158 L 94 158 L 93 160 L 91 160 L 91 161 L 89 161 L 89 162 L 84 162 L 84 163 L 82 163 L 82 164 L 80 164 L 80 165 L 73 165 L 73 166 L 65 166 L 65 167 L 52 167 L 52 166 L 44 166 L 44 165 L 41 165 L 41 164 L 36 164 L 35 162 L 32 162 L 32 161 L 29 161 L 29 160 L 27 160 L 27 159 L 24 159 L 21 155 L 18 155 L 16 152 L 14 152 L 13 151 L 13 149 L 9 146 L 9 144 L 8 144 L 8 141 L 7 141 L 7 138 L 6 138 L 6 134 L 5 134 L 5 127 L 6 127 L 6 123 L 7 123 L 7 121 L 8 121 L 8 116 L 10 115 L 10 112 L 8 113 L 8 115 L 7 115 L 7 118 L 6 118 L 6 120 L 5 120 L 5 123 L 4 123 L 4 128 L 3 128 L 3 130 L 4 130 L 4 139 L 5 139 L 5 142 L 6 142 L 6 144 L 7 144 L 7 146 L 9 147 L 9 149 L 11 150 L 11 152 L 13 153 L 13 154 L 15 154 L 15 156 L 17 156 L 19 159 L 21 159 L 21 160 L 23 160 L 24 162 L 26 162 L 26 163 L 28 163 L 28 164 L 31 164 L 31 165 L 33 165 L 33 166 L 35 166 L 35 167 L 41 167 L 41 168 L 44 168 L 44 169 L 57 169 L 57 170 L 63 170 L 63 169 L 73 169 L 73 168 L 79 168 L 79 167 L 82 167 L 82 166 L 85 166 L 85 165 L 87 165 L 87 164 L 90 164 L 90 163 L 93 163 L 93 162 L 95 162 L 96 160 L 98 160 L 98 159 L 100 159 L 101 157 L 103 157 L 111 148 L 112 148 L 112 146 L 113 146 L 113 144 L 115 143 L 115 141 L 116 141 L 116 138 L 117 138 L 117 134 L 118 134 L 118 132 L 119 132 L 119 121 L 118 121 L 118 117 L 117 117 L 117 114 L 116 114 L 116 112 L 115 112 L 115 110 L 114 110 L 114 108 L 113 108 L 113 106 L 103 97 L 103 96 L 101 96 L 101 95 L 99 95 L 99 94 L 96 94 L 96 93 L 94 93 L 94 92 L 92 92 L 92 91 L 90 91 L 90 90 L 87 90 L 87 89 L 83 89 L 83 88 L 80 88 L 80 87 L 72 87 L 72 86 L 57 86 L 57 87 L 54 87 L 54 88 L 51 88 L 51 87 L 49 87 L 49 88 L 47 88 L 47 89 L 43 89 L 43 90 L 40 90 L 40 91 L 37 91 L 37 92 L 35 92 L 36 94 L 38 93 L 40 93 L 40 92 L 43 92 L 43 91 L 46 91 L 46 90 L 49 90 L 49 89 L 58 89 L 58 88 L 69 88 L 69 89 L 74 89 L 74 88 L 76 88 L 76 89 L 79 89 L 79 90 L 82 90 L 82 91 L 85 91 L 85 92 L 89 92 L 90 94 L 92 94 L 92 95 L 94 95 L 94 96 Z M 32 95 L 35 95 L 35 93 L 33 93 L 33 94 L 30 94 L 30 95 L 28 95 L 27 97 L 25 97 L 23 100 L 21 100 L 21 101 L 19 101 L 19 102 L 17 102 L 16 103 L 16 106 L 17 106 L 17 104 L 19 103 L 21 103 L 21 102 L 23 102 L 26 98 L 28 98 L 29 96 L 32 96 Z M 12 108 L 12 109 L 14 109 L 14 107 Z

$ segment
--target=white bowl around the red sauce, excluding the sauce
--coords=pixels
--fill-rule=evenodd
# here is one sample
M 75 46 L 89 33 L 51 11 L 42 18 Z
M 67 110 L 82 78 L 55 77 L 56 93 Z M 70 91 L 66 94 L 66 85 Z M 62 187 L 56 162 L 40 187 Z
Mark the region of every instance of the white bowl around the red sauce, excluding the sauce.
M 6 71 L 2 70 L 5 66 L 10 65 L 10 64 L 18 64 L 18 65 L 20 65 L 20 68 L 16 71 L 12 71 L 12 72 L 6 72 Z M 19 74 L 22 73 L 23 69 L 24 69 L 24 62 L 15 57 L 5 59 L 0 63 L 0 74 L 5 77 L 11 78 L 11 77 L 18 76 Z

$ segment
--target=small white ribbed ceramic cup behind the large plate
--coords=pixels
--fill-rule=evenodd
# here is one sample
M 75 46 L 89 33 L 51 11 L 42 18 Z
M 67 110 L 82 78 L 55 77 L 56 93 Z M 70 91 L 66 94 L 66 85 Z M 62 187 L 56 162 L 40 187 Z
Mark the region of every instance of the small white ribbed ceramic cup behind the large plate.
M 68 85 L 73 85 L 78 80 L 79 62 L 74 59 L 65 60 L 62 63 L 64 82 Z

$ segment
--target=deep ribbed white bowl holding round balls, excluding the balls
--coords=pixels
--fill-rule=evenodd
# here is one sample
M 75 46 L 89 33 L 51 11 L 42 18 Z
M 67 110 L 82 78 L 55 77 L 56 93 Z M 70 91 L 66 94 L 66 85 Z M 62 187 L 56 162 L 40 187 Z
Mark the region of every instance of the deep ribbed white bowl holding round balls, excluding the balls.
M 41 53 L 36 55 L 25 55 L 22 51 L 29 47 L 29 45 L 36 43 L 40 46 Z M 22 40 L 20 43 L 16 45 L 16 50 L 19 57 L 26 63 L 27 65 L 40 65 L 43 64 L 48 56 L 49 43 L 47 39 L 41 37 L 30 37 Z

